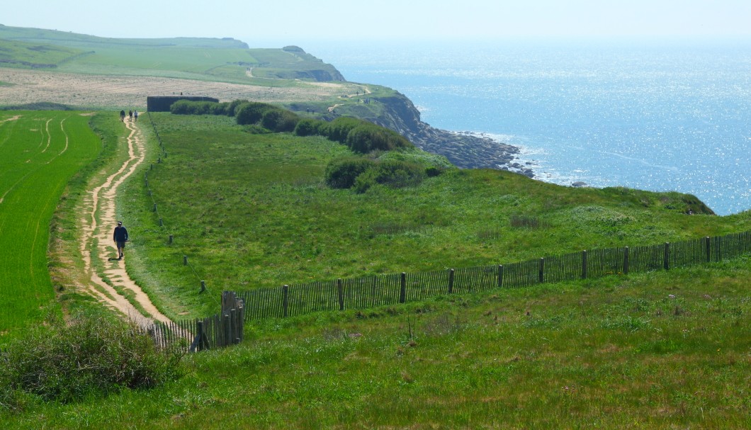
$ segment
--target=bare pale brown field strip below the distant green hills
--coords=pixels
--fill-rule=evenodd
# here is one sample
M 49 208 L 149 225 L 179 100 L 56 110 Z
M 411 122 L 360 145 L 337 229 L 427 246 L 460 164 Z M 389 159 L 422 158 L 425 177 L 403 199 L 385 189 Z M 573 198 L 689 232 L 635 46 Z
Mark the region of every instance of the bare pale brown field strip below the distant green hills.
M 0 105 L 50 102 L 77 107 L 146 109 L 149 95 L 192 95 L 219 101 L 249 99 L 269 103 L 324 101 L 360 89 L 351 83 L 297 82 L 287 88 L 219 83 L 167 77 L 69 74 L 0 68 Z

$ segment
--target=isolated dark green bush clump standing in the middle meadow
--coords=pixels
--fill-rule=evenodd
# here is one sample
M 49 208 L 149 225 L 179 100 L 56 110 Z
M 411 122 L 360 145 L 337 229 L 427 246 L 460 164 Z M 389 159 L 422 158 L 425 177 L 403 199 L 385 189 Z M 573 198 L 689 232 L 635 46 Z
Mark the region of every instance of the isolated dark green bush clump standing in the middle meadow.
M 332 188 L 353 188 L 358 193 L 373 185 L 404 188 L 419 185 L 426 169 L 408 161 L 375 161 L 363 157 L 339 158 L 326 167 L 326 183 Z

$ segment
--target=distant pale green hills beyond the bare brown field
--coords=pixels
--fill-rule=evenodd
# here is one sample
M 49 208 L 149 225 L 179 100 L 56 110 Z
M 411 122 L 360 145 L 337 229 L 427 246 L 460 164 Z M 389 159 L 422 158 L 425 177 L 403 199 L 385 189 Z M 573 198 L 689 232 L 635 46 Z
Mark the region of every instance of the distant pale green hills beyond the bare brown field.
M 231 38 L 116 39 L 0 26 L 0 65 L 46 65 L 77 74 L 176 77 L 264 86 L 294 79 L 339 79 L 339 72 L 303 51 L 248 49 Z M 253 76 L 246 71 L 252 68 Z

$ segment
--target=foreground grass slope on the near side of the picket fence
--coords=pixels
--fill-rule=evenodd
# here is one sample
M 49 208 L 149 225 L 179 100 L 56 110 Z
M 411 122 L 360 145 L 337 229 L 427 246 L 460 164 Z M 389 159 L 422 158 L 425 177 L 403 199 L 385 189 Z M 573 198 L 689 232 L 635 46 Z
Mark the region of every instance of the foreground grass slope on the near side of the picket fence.
M 164 388 L 5 427 L 749 428 L 749 258 L 250 326 Z

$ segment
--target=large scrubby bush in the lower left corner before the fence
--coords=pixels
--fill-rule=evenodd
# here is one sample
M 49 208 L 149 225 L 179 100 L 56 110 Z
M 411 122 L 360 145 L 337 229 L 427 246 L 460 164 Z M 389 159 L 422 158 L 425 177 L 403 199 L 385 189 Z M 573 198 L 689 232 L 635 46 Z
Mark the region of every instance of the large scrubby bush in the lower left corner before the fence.
M 30 331 L 0 353 L 0 407 L 23 398 L 69 402 L 123 387 L 158 386 L 179 376 L 183 350 L 158 350 L 120 320 L 77 317 Z

